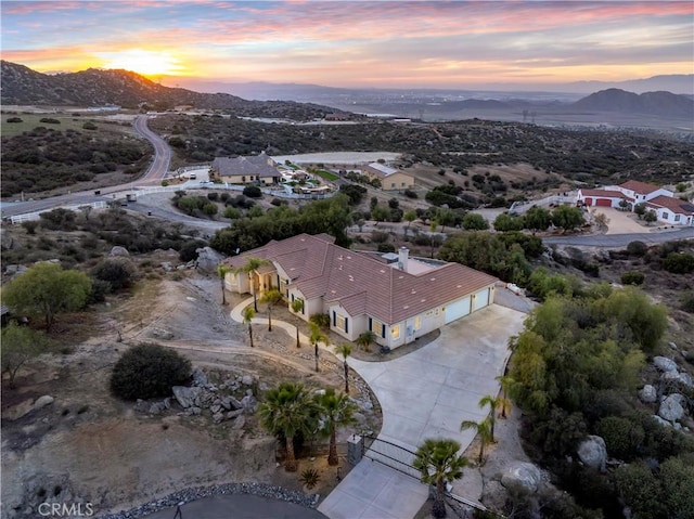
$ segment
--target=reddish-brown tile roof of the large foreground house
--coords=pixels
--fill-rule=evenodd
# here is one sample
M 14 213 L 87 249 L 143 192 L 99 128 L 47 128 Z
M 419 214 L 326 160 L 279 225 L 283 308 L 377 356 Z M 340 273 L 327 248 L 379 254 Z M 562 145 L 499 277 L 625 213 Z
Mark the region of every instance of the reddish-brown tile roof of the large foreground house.
M 459 263 L 411 274 L 338 247 L 325 234 L 270 242 L 226 262 L 237 268 L 248 257 L 277 262 L 308 299 L 323 297 L 325 302 L 339 302 L 350 315 L 369 314 L 387 324 L 445 306 L 497 281 Z

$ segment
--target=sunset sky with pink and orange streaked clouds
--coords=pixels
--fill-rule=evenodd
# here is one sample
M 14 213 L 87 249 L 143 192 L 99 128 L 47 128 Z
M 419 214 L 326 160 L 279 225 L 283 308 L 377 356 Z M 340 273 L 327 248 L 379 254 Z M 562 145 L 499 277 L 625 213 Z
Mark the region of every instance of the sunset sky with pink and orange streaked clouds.
M 2 1 L 2 59 L 344 87 L 547 86 L 692 74 L 693 3 Z

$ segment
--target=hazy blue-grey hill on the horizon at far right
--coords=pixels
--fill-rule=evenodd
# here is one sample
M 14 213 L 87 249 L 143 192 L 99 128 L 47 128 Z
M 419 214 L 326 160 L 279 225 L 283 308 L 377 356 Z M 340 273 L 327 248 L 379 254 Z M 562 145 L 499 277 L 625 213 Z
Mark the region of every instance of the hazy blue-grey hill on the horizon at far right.
M 670 92 L 635 94 L 620 89 L 607 89 L 578 100 L 571 107 L 580 111 L 647 114 L 690 120 L 694 118 L 694 100 Z

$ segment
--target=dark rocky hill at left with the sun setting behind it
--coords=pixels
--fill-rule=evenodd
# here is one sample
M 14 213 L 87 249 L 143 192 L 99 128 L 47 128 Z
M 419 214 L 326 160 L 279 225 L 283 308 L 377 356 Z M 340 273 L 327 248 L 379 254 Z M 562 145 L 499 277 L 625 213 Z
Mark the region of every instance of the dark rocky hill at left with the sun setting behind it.
M 288 117 L 311 119 L 334 108 L 293 102 L 246 101 L 227 93 L 200 93 L 182 88 L 157 85 L 128 70 L 87 70 L 47 75 L 30 68 L 0 62 L 2 83 L 1 102 L 56 106 L 118 105 L 124 108 L 146 106 L 168 109 L 191 105 L 202 109 L 233 109 L 249 117 Z

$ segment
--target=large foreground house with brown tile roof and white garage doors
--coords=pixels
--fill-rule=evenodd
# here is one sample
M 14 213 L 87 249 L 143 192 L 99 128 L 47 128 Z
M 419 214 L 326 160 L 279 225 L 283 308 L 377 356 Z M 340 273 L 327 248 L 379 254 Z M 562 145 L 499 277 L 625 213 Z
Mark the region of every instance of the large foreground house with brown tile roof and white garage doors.
M 224 260 L 232 269 L 248 258 L 267 264 L 247 275 L 231 272 L 226 287 L 241 294 L 270 288 L 292 302 L 297 315 L 330 315 L 331 330 L 355 340 L 367 330 L 388 348 L 403 346 L 445 324 L 488 307 L 496 277 L 459 263 L 410 258 L 400 249 L 391 262 L 333 243 L 326 234 L 299 234 Z M 397 257 L 397 261 L 395 258 Z

